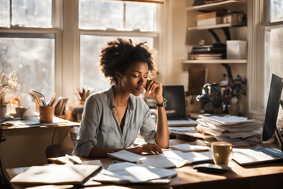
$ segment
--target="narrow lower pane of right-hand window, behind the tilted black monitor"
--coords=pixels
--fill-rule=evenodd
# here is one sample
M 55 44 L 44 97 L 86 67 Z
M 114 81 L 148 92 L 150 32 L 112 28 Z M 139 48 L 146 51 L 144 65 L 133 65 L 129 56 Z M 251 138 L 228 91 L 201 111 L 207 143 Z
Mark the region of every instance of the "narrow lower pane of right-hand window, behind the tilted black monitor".
M 269 65 L 270 30 L 264 31 L 264 108 L 266 109 L 272 73 Z

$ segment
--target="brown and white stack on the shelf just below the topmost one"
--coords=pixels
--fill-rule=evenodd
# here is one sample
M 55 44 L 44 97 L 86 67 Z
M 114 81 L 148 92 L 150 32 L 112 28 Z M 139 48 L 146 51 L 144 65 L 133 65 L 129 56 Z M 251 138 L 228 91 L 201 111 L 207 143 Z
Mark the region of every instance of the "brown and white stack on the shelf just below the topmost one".
M 227 11 L 213 11 L 196 15 L 196 25 L 210 26 L 216 24 L 222 24 L 222 16 L 226 15 Z

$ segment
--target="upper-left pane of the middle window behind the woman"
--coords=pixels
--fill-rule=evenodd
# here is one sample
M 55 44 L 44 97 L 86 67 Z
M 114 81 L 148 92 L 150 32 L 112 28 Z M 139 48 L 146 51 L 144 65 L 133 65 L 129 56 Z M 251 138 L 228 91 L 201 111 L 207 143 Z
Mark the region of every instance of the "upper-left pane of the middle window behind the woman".
M 123 27 L 123 1 L 79 0 L 79 28 Z

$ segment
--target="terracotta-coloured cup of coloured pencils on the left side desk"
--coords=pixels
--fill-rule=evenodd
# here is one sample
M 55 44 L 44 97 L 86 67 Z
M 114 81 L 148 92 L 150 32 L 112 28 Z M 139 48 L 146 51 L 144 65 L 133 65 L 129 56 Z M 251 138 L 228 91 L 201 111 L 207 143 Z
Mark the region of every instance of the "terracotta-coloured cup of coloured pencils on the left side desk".
M 38 99 L 37 102 L 39 104 L 39 122 L 40 123 L 53 123 L 53 117 L 55 112 L 54 103 L 56 101 L 55 94 L 49 103 L 46 103 L 46 99 L 44 97 Z

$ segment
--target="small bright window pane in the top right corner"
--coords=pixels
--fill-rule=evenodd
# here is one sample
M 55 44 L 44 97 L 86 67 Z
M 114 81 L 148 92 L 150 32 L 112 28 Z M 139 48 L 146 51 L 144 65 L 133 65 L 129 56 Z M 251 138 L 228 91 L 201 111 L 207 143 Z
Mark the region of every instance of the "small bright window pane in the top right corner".
M 278 22 L 283 20 L 283 1 L 270 1 L 270 22 Z

